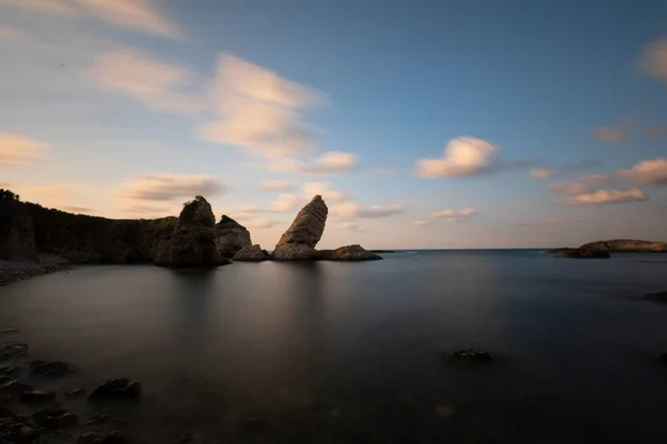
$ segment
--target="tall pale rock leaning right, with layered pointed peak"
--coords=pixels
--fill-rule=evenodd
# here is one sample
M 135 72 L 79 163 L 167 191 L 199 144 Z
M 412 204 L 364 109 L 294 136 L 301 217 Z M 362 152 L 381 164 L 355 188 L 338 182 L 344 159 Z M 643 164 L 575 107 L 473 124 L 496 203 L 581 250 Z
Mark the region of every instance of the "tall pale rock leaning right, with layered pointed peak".
M 273 250 L 276 261 L 316 260 L 315 246 L 325 232 L 329 210 L 321 195 L 316 195 L 299 211 L 297 218 L 282 234 Z

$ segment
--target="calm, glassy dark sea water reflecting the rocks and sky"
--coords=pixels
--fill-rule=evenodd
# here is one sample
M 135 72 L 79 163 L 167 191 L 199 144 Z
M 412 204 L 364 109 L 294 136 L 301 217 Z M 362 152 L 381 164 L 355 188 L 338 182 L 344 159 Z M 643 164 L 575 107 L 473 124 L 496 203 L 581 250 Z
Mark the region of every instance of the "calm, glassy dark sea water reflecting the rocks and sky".
M 667 255 L 94 266 L 0 289 L 22 329 L 0 341 L 79 370 L 40 387 L 140 381 L 136 403 L 64 403 L 138 442 L 664 442 L 667 305 L 634 300 L 659 290 Z M 497 361 L 440 359 L 465 347 Z

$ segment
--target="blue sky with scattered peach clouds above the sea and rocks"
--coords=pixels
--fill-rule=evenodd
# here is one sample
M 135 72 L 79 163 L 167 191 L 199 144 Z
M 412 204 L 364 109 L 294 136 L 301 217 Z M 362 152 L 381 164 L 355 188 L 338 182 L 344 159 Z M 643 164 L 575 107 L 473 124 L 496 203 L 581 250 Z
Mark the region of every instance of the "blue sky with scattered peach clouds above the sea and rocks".
M 0 0 L 0 188 L 272 249 L 667 240 L 663 0 Z

